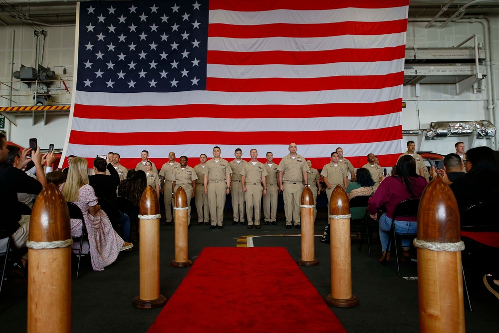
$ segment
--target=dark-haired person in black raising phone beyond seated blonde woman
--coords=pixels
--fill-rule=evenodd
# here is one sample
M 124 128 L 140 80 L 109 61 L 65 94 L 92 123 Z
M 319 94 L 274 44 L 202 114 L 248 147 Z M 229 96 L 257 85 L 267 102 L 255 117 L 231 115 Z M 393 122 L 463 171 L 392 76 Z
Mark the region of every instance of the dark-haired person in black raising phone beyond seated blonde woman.
M 113 205 L 114 212 L 106 212 L 113 214 L 115 223 L 121 225 L 121 236 L 123 240 L 128 242 L 130 239 L 130 218 L 118 208 L 118 198 L 116 197 L 116 189 L 120 184 L 120 176 L 111 163 L 107 163 L 105 159 L 97 157 L 94 160 L 95 175 L 88 176 L 88 184 L 93 187 L 97 198 L 109 200 Z M 110 175 L 106 175 L 106 169 Z

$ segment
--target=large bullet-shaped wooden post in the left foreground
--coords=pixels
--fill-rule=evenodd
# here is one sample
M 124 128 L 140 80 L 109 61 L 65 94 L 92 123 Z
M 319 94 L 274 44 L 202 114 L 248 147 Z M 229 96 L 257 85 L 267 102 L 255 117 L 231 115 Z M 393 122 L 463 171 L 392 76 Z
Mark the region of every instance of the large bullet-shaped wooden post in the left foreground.
M 71 226 L 66 201 L 48 184 L 29 222 L 27 332 L 71 332 Z

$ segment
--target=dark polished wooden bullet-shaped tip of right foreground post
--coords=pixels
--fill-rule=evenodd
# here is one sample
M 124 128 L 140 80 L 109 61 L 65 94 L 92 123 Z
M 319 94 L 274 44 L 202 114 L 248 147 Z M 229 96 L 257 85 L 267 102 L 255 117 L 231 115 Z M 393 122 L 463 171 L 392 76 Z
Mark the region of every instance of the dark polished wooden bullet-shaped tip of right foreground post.
M 423 191 L 418 209 L 417 238 L 427 242 L 461 241 L 459 208 L 454 193 L 437 177 Z

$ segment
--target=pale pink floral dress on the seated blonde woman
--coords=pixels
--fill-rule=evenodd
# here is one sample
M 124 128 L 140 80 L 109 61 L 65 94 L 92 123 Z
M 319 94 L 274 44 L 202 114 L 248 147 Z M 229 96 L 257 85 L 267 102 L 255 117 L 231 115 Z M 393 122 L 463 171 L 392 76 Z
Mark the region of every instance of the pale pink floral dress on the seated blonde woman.
M 59 189 L 62 190 L 62 184 Z M 109 218 L 103 210 L 99 214 L 92 216 L 89 207 L 97 205 L 97 197 L 94 189 L 90 185 L 80 187 L 78 201 L 74 202 L 83 213 L 85 227 L 88 233 L 88 243 L 85 241 L 82 253 L 90 252 L 90 259 L 94 271 L 103 271 L 104 267 L 112 264 L 118 257 L 124 242 L 114 231 Z M 81 235 L 81 221 L 71 219 L 71 236 Z M 73 250 L 80 249 L 80 243 L 74 242 Z

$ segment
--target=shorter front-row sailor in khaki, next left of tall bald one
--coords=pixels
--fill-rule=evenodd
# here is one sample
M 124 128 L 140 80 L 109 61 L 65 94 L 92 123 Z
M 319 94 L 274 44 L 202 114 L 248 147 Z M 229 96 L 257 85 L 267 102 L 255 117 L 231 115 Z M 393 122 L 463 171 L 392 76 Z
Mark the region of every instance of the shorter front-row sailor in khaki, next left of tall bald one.
M 260 229 L 260 202 L 262 194 L 267 193 L 265 187 L 265 176 L 267 171 L 263 163 L 258 162 L 258 152 L 256 149 L 250 150 L 251 160 L 241 170 L 241 183 L 245 192 L 246 215 L 248 216 L 248 229 L 253 227 L 253 207 L 254 207 L 254 227 Z M 234 185 L 233 185 L 234 186 Z

